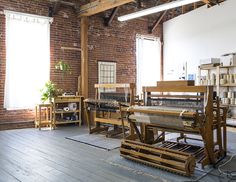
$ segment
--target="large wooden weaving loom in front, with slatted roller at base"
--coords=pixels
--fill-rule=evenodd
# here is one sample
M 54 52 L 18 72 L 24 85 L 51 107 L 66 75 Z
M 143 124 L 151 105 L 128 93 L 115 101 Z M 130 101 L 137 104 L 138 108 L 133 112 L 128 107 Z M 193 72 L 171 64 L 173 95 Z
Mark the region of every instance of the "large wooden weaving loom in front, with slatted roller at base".
M 213 100 L 213 87 L 143 87 L 143 92 L 145 106 L 121 109 L 135 130 L 122 141 L 121 156 L 190 176 L 196 163 L 214 165 L 226 155 L 227 108 Z M 166 140 L 166 132 L 180 137 Z

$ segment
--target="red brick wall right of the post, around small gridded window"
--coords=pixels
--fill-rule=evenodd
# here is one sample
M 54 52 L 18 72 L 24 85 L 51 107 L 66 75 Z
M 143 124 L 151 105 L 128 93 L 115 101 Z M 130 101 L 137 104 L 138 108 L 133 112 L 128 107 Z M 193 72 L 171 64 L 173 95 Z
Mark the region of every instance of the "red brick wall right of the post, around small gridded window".
M 95 94 L 99 60 L 116 61 L 117 83 L 135 83 L 136 34 L 148 34 L 148 21 L 119 22 L 115 18 L 110 27 L 105 27 L 99 16 L 92 16 L 89 21 L 89 96 L 94 97 Z M 159 34 L 158 28 L 154 35 Z

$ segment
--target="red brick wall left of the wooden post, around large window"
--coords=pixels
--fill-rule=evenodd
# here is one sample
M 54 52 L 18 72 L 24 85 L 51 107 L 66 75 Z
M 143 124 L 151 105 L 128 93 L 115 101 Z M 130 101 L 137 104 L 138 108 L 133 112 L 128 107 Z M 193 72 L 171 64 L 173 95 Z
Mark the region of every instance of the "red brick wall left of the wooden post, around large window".
M 51 4 L 47 0 L 18 0 L 0 1 L 0 11 L 12 10 L 42 16 L 48 16 L 48 7 Z M 76 91 L 77 77 L 80 74 L 80 53 L 78 51 L 62 51 L 61 47 L 78 46 L 79 33 L 77 16 L 70 7 L 63 9 L 54 17 L 51 25 L 51 79 L 66 90 Z M 54 69 L 55 63 L 63 59 L 72 67 L 72 74 L 68 75 L 62 82 L 61 74 Z M 0 123 L 13 121 L 33 120 L 34 112 L 32 110 L 6 111 L 3 108 L 4 84 L 5 84 L 5 15 L 0 15 Z

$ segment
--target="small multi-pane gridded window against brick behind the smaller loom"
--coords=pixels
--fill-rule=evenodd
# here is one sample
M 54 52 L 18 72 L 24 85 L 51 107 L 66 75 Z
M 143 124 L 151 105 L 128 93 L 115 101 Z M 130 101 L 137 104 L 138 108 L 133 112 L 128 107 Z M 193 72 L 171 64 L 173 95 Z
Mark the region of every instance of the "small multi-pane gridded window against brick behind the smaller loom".
M 116 83 L 116 63 L 99 61 L 98 62 L 98 83 L 113 84 Z M 114 89 L 106 89 L 106 92 L 114 91 Z

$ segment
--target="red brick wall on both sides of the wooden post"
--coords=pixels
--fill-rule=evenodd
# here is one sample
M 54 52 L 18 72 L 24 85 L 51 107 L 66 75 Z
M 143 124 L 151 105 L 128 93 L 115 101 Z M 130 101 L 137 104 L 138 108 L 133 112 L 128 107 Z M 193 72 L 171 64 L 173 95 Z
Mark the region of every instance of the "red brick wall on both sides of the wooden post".
M 0 1 L 0 11 L 7 9 L 37 15 L 48 15 L 47 0 Z M 122 8 L 119 14 L 127 9 Z M 109 11 L 106 13 L 110 13 Z M 94 97 L 94 84 L 98 82 L 98 60 L 117 62 L 117 83 L 135 82 L 135 35 L 147 34 L 148 21 L 132 20 L 112 22 L 104 27 L 104 13 L 89 18 L 89 96 Z M 159 29 L 154 33 L 159 36 Z M 63 7 L 54 17 L 51 25 L 51 79 L 65 90 L 77 90 L 80 75 L 80 52 L 61 50 L 61 47 L 80 47 L 80 20 L 70 7 Z M 61 74 L 54 69 L 57 60 L 63 59 L 72 67 L 72 74 L 62 82 Z M 5 16 L 0 14 L 0 123 L 33 120 L 32 110 L 6 111 L 3 108 L 5 83 Z

